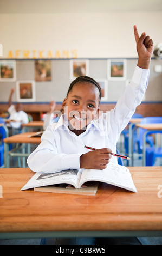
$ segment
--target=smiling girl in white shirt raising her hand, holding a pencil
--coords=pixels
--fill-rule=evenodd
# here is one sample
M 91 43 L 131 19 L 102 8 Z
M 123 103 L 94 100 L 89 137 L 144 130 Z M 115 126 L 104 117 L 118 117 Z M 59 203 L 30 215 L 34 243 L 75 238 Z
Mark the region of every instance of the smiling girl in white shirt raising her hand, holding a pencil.
M 28 157 L 34 172 L 54 173 L 66 169 L 104 169 L 109 162 L 117 163 L 115 153 L 121 131 L 141 103 L 147 88 L 153 41 L 145 33 L 139 37 L 136 26 L 138 64 L 131 83 L 116 107 L 100 113 L 101 89 L 90 77 L 81 76 L 70 84 L 63 100 L 64 114 L 58 123 L 47 127 L 41 144 Z M 91 151 L 88 145 L 98 150 Z

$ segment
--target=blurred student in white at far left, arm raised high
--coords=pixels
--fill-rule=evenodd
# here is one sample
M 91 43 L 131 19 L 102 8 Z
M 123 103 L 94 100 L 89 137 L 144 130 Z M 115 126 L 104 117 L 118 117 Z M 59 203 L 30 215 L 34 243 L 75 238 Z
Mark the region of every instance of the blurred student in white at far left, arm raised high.
M 10 114 L 9 123 L 9 135 L 15 135 L 20 132 L 22 124 L 27 124 L 29 122 L 28 115 L 23 111 L 23 105 L 17 103 L 16 105 L 12 104 L 12 95 L 15 92 L 15 88 L 12 88 L 9 95 L 9 108 L 8 112 Z

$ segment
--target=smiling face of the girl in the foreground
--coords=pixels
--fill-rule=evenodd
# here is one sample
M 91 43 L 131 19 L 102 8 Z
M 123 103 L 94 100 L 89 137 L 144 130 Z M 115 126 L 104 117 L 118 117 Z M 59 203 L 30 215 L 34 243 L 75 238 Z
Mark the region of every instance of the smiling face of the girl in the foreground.
M 91 83 L 78 82 L 70 90 L 62 107 L 69 120 L 69 129 L 76 135 L 86 130 L 87 125 L 98 116 L 99 90 Z

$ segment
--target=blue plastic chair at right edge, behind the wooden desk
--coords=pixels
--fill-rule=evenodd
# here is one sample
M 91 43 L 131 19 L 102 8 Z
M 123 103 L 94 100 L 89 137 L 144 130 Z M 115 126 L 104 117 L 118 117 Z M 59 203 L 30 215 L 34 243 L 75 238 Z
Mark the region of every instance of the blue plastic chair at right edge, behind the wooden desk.
M 162 117 L 145 117 L 141 120 L 141 124 L 157 124 L 162 123 Z M 139 150 L 142 152 L 143 150 L 143 137 L 145 133 L 145 129 L 139 128 Z M 150 131 L 148 135 L 153 133 L 162 133 L 162 131 Z M 151 136 L 150 136 L 151 137 Z M 153 137 L 152 137 L 153 139 Z M 147 142 L 147 140 L 146 140 Z M 149 143 L 149 142 L 148 142 Z M 153 166 L 155 163 L 155 159 L 157 157 L 162 157 L 162 149 L 155 147 L 154 143 L 149 143 L 150 147 L 146 148 L 146 166 Z

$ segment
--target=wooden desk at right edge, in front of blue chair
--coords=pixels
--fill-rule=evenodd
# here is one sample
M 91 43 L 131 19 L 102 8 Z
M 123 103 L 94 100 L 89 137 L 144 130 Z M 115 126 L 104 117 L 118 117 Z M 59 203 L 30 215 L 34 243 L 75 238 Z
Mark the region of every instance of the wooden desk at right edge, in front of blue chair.
M 157 123 L 157 124 L 136 124 L 136 127 L 145 129 L 145 133 L 144 133 L 144 138 L 143 138 L 143 166 L 146 165 L 146 136 L 148 134 L 148 132 L 161 132 L 162 131 L 162 124 L 161 123 Z

